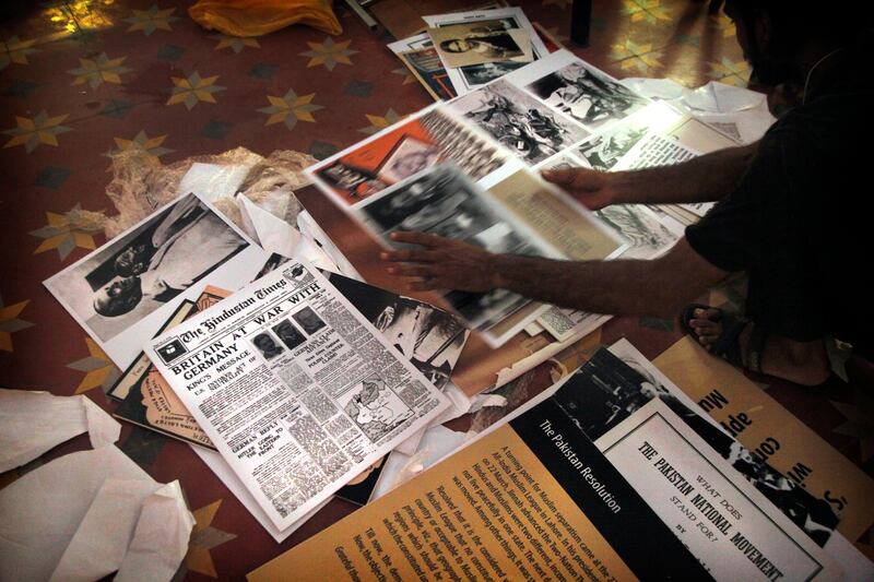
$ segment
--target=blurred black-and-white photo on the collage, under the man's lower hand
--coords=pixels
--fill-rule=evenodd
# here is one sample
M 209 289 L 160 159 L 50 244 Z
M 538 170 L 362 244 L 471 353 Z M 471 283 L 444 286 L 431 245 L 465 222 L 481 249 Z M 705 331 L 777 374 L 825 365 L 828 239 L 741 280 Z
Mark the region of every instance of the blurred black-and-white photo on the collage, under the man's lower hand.
M 417 230 L 464 240 L 497 253 L 550 254 L 521 235 L 499 209 L 458 168 L 441 164 L 369 199 L 357 212 L 371 230 L 394 247 L 402 245 L 390 240 L 391 233 Z M 484 294 L 450 292 L 445 297 L 476 329 L 493 325 L 528 302 L 503 289 Z

